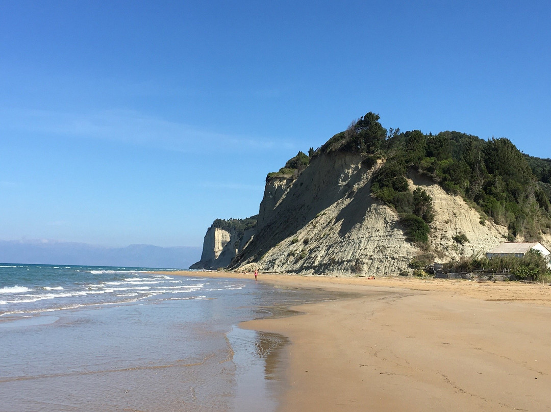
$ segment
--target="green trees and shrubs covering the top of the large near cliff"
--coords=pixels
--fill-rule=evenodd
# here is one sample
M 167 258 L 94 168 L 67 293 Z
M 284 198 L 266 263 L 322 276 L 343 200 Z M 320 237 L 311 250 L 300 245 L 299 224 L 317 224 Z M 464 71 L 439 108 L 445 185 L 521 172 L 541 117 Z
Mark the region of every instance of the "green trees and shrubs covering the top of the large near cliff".
M 299 152 L 270 177 L 296 177 L 311 158 L 354 152 L 371 166 L 385 162 L 373 178 L 371 193 L 401 216 L 410 241 L 426 242 L 434 219 L 432 199 L 422 189 L 409 190 L 409 170 L 432 178 L 447 192 L 462 196 L 484 219 L 509 228 L 509 237 L 535 240 L 551 228 L 551 160 L 522 154 L 506 138 L 480 139 L 460 132 L 424 134 L 386 129 L 369 112 L 337 133 L 320 149 Z M 417 218 L 417 219 L 416 219 Z

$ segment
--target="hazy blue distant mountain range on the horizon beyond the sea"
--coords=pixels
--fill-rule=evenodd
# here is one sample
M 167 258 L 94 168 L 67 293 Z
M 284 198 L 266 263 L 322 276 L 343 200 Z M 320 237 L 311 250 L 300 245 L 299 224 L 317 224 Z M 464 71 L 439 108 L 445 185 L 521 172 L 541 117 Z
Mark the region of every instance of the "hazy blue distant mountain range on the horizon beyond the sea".
M 200 257 L 201 247 L 193 246 L 105 247 L 51 240 L 0 240 L 0 262 L 5 263 L 187 269 Z

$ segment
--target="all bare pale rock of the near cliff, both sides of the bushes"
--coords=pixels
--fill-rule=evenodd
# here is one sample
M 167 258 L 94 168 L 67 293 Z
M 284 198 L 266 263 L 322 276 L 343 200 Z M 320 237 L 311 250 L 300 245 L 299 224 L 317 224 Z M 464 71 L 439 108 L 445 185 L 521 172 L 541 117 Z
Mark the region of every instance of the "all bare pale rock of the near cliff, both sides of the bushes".
M 296 180 L 269 180 L 256 234 L 230 268 L 344 276 L 408 270 L 426 251 L 406 241 L 396 212 L 371 196 L 371 178 L 381 166 L 358 154 L 332 153 L 312 159 Z M 485 253 L 505 240 L 506 227 L 481 220 L 461 197 L 428 178 L 409 177 L 412 189 L 421 186 L 433 197 L 436 262 Z M 462 234 L 467 241 L 454 240 Z

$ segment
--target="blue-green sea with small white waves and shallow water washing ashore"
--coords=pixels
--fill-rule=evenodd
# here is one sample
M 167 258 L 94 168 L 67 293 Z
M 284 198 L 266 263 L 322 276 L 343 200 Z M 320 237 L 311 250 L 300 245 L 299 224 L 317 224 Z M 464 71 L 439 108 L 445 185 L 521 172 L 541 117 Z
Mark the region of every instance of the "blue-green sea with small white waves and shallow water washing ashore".
M 239 323 L 337 296 L 171 272 L 0 264 L 0 412 L 276 410 L 288 340 Z

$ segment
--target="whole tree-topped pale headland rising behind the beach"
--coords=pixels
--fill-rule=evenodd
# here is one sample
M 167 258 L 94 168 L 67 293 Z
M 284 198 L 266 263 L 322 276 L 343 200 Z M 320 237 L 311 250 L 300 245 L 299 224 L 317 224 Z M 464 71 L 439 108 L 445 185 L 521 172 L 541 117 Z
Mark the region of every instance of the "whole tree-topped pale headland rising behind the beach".
M 546 166 L 507 139 L 389 132 L 370 112 L 267 176 L 256 227 L 245 238 L 209 229 L 209 239 L 234 245 L 231 261 L 213 267 L 207 256 L 194 266 L 399 274 L 507 239 L 551 246 L 549 183 L 537 176 L 547 176 Z M 218 247 L 220 256 L 214 243 L 206 236 L 203 254 Z

